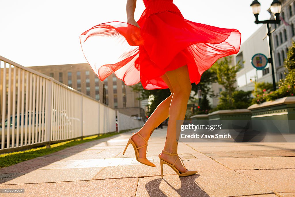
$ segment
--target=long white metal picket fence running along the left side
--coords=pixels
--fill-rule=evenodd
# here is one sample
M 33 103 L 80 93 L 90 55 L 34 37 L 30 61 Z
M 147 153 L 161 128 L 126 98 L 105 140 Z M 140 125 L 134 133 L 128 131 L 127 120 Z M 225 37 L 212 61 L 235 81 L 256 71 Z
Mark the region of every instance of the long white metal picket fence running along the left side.
M 142 121 L 2 56 L 0 123 L 0 153 L 143 125 Z

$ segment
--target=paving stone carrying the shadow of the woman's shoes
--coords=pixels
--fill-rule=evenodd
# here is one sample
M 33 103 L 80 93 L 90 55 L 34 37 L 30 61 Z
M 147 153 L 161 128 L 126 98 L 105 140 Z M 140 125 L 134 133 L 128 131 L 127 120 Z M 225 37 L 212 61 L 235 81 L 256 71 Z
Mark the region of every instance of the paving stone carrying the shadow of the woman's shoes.
M 237 184 L 238 183 L 238 184 Z M 236 196 L 272 193 L 236 172 L 201 172 L 188 177 L 140 178 L 136 196 Z M 270 196 L 271 197 L 271 196 Z

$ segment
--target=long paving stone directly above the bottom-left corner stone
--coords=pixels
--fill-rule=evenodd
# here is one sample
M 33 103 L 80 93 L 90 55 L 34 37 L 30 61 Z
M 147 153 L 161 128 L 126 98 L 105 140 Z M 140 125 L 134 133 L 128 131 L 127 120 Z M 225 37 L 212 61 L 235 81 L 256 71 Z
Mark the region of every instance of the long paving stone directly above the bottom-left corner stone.
M 102 169 L 103 167 L 34 170 L 18 178 L 2 183 L 1 185 L 91 180 Z

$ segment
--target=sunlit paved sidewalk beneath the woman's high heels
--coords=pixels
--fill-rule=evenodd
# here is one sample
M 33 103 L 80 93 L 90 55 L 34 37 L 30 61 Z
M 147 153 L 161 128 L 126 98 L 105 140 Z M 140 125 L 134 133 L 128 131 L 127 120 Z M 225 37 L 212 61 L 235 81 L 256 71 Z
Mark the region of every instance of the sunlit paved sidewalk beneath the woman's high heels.
M 295 143 L 179 143 L 184 164 L 198 173 L 178 177 L 164 165 L 162 180 L 166 128 L 149 140 L 147 157 L 156 167 L 138 163 L 131 145 L 122 154 L 131 134 L 0 169 L 0 188 L 24 188 L 5 196 L 295 196 Z

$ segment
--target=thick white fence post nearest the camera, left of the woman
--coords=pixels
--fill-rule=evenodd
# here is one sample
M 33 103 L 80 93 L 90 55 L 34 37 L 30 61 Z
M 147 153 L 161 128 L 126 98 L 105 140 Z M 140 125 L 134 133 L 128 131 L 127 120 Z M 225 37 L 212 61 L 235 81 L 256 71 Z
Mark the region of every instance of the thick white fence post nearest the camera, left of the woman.
M 46 113 L 47 113 L 47 118 L 46 118 L 46 148 L 50 148 L 50 136 L 51 136 L 51 129 L 52 129 L 52 121 L 51 121 L 51 114 L 53 113 L 52 111 L 52 96 L 53 96 L 53 81 L 52 78 L 51 80 L 47 80 L 47 105 L 46 105 Z

